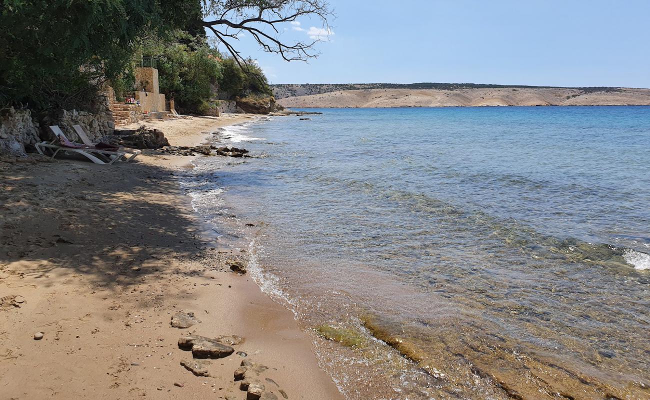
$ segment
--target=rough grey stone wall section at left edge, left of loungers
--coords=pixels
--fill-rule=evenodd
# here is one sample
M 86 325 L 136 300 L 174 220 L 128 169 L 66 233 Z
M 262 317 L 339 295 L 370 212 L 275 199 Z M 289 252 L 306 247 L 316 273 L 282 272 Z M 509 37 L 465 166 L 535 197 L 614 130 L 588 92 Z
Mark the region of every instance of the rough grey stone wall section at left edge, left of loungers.
M 0 153 L 24 156 L 25 146 L 40 141 L 38 122 L 30 110 L 0 111 Z

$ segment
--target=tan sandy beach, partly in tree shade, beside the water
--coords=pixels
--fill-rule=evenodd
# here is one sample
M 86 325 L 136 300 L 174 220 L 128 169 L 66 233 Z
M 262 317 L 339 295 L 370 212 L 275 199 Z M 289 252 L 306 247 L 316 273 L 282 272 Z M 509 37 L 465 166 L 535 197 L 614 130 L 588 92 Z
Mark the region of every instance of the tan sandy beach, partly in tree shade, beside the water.
M 250 118 L 146 125 L 191 145 Z M 147 153 L 114 166 L 0 162 L 0 297 L 21 302 L 0 310 L 0 399 L 242 400 L 233 371 L 244 359 L 269 367 L 259 379 L 278 399 L 280 388 L 340 399 L 292 313 L 229 271 L 246 254 L 194 214 L 175 178 L 190 157 Z M 170 327 L 179 310 L 201 323 Z M 188 332 L 242 336 L 235 351 L 248 356 L 211 360 L 211 377 L 196 377 L 180 365 L 192 360 L 177 347 Z

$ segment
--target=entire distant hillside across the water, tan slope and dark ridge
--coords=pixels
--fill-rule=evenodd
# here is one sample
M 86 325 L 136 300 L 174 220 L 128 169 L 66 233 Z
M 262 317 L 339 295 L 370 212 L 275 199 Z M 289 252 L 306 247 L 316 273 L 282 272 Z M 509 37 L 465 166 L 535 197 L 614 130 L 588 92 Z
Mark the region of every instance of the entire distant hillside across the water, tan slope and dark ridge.
M 532 87 L 471 83 L 274 85 L 294 108 L 459 107 L 481 105 L 650 105 L 650 89 Z

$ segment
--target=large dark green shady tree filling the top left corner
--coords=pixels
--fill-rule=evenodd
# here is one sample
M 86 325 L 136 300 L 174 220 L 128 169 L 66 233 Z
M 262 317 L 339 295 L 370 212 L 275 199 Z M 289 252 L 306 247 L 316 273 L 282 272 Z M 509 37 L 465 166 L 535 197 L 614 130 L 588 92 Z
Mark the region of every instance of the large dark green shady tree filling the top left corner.
M 143 34 L 201 20 L 198 0 L 3 0 L 0 103 L 87 108 Z

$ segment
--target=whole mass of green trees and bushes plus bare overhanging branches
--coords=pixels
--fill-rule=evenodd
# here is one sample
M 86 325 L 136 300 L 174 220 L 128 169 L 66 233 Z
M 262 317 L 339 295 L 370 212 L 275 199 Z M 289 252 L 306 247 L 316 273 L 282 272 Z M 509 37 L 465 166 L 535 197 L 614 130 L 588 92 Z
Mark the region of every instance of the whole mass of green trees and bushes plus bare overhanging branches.
M 107 82 L 129 90 L 142 55 L 158 60 L 161 91 L 185 111 L 205 109 L 216 85 L 229 98 L 268 96 L 259 66 L 228 39 L 248 31 L 284 59 L 314 57 L 313 42 L 285 44 L 274 25 L 328 13 L 323 0 L 3 0 L 0 105 L 88 109 Z M 206 28 L 231 58 L 221 62 Z

